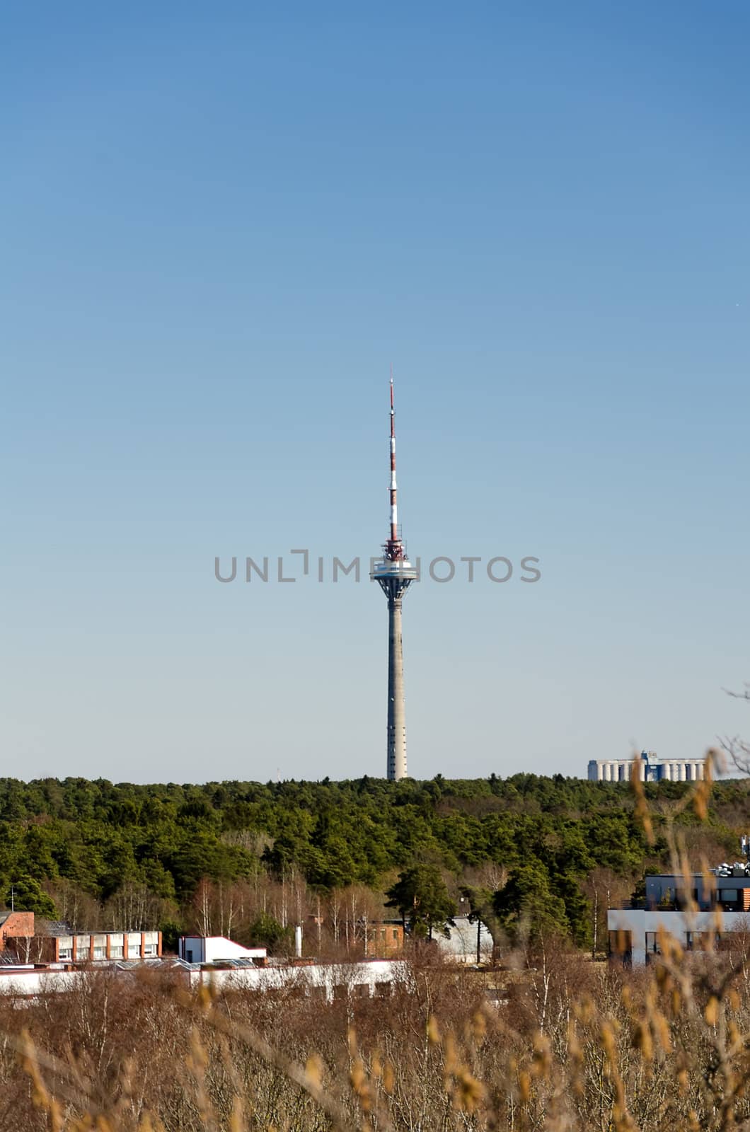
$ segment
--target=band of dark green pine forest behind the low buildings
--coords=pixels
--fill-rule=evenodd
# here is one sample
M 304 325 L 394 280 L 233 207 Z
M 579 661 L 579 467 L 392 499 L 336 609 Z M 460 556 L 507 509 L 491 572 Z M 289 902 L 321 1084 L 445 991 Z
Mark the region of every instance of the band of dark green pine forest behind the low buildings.
M 667 830 L 692 859 L 735 859 L 748 783 L 716 782 L 706 820 L 690 783 L 645 787 L 648 843 L 629 783 L 515 774 L 386 782 L 112 783 L 0 780 L 0 906 L 74 929 L 160 927 L 309 947 L 357 946 L 363 918 L 416 934 L 455 911 L 512 936 L 521 919 L 590 949 L 607 903 L 668 867 Z M 414 887 L 433 912 L 408 916 Z M 427 895 L 429 893 L 429 898 Z M 494 931 L 493 931 L 493 934 Z

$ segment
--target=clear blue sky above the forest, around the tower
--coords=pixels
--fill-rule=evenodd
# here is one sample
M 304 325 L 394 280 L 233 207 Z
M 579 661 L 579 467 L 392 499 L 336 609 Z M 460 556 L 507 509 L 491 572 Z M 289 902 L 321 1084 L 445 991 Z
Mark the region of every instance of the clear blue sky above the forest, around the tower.
M 517 564 L 409 594 L 410 773 L 750 732 L 749 35 L 7 7 L 5 772 L 383 773 L 385 602 L 330 571 L 386 534 L 391 362 L 411 555 Z M 214 580 L 291 548 L 329 580 Z

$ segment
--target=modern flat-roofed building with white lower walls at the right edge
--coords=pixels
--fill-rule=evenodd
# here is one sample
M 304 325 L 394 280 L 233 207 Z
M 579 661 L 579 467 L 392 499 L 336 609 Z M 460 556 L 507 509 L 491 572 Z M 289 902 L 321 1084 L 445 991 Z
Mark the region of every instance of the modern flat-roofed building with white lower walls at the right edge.
M 694 951 L 711 938 L 750 932 L 750 865 L 719 865 L 708 881 L 693 873 L 688 893 L 682 875 L 647 876 L 642 903 L 607 910 L 610 954 L 642 967 L 659 953 L 659 933 Z

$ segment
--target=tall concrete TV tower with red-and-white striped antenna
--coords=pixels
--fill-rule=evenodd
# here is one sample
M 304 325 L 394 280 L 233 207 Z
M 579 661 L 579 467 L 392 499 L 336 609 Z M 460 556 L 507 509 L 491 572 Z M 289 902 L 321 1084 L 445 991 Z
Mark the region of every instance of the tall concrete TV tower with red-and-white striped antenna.
M 395 501 L 395 417 L 393 413 L 393 369 L 391 369 L 391 537 L 383 547 L 383 558 L 375 563 L 374 578 L 387 598 L 387 779 L 398 782 L 407 777 L 407 718 L 403 706 L 403 643 L 401 604 L 403 594 L 418 574 L 407 558 L 401 541 Z

